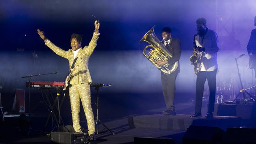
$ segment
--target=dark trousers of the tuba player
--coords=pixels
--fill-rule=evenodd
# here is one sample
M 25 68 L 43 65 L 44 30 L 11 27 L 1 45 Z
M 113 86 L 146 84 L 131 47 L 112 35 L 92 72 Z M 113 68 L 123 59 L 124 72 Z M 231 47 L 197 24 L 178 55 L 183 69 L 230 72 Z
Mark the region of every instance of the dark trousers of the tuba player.
M 174 95 L 175 95 L 175 80 L 178 75 L 178 70 L 174 71 L 171 74 L 163 74 L 161 73 L 162 80 L 162 89 L 164 94 L 164 101 L 166 104 L 166 108 L 170 110 L 174 110 Z

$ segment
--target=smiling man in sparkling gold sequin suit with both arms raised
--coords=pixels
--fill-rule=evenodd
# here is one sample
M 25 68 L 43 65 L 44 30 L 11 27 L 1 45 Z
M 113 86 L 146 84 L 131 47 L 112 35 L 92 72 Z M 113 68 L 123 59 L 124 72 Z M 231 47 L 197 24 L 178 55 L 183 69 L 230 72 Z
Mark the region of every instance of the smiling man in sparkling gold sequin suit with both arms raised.
M 44 36 L 44 33 L 42 31 L 37 29 L 39 36 L 44 40 L 46 46 L 48 46 L 59 56 L 68 59 L 70 68 L 74 62 L 74 59 L 78 58 L 76 60 L 76 63 L 74 64 L 74 70 L 70 80 L 71 87 L 69 88 L 73 127 L 75 132 L 82 132 L 79 120 L 81 99 L 84 113 L 86 115 L 88 134 L 90 135 L 91 140 L 95 140 L 95 123 L 94 114 L 92 112 L 91 106 L 90 83 L 92 82 L 92 79 L 88 69 L 88 60 L 97 45 L 97 40 L 100 35 L 100 33 L 98 33 L 100 23 L 98 21 L 95 21 L 94 27 L 95 30 L 92 36 L 92 40 L 90 41 L 88 46 L 82 48 L 82 36 L 79 34 L 72 34 L 70 39 L 70 46 L 72 47 L 72 49 L 69 49 L 68 51 L 62 50 L 58 46 L 54 45 Z

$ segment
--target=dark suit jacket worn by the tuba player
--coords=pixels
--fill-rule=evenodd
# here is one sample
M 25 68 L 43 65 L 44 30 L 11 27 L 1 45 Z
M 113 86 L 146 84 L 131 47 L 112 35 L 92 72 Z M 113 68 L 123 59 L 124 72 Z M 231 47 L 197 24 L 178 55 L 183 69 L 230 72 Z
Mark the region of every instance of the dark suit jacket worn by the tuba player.
M 166 46 L 167 50 L 171 52 L 172 58 L 168 59 L 168 63 L 170 66 L 168 68 L 172 68 L 173 63 L 180 60 L 180 40 L 178 38 L 172 38 L 172 42 Z M 176 69 L 177 72 L 180 72 L 180 62 L 178 64 L 178 68 Z

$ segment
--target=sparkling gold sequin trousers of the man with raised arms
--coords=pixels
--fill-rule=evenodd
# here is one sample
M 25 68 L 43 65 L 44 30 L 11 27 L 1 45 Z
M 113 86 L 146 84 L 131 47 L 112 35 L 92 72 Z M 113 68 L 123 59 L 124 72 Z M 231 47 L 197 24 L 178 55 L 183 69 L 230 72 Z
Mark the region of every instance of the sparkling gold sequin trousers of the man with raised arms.
M 84 108 L 84 113 L 87 120 L 88 134 L 95 133 L 94 115 L 91 105 L 90 84 L 74 84 L 69 88 L 69 97 L 71 104 L 73 127 L 75 132 L 81 132 L 79 112 L 80 112 L 80 98 Z

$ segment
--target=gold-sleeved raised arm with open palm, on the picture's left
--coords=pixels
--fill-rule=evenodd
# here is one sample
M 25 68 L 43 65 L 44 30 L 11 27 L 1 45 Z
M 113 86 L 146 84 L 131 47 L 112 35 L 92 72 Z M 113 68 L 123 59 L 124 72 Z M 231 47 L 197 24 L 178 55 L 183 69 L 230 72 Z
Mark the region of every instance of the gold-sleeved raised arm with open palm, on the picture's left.
M 44 32 L 40 31 L 39 29 L 37 29 L 37 33 L 39 34 L 40 38 L 44 40 L 45 45 L 48 46 L 53 52 L 55 52 L 59 56 L 62 56 L 63 58 L 68 58 L 68 51 L 62 50 L 61 48 L 50 42 L 50 40 L 45 37 Z

